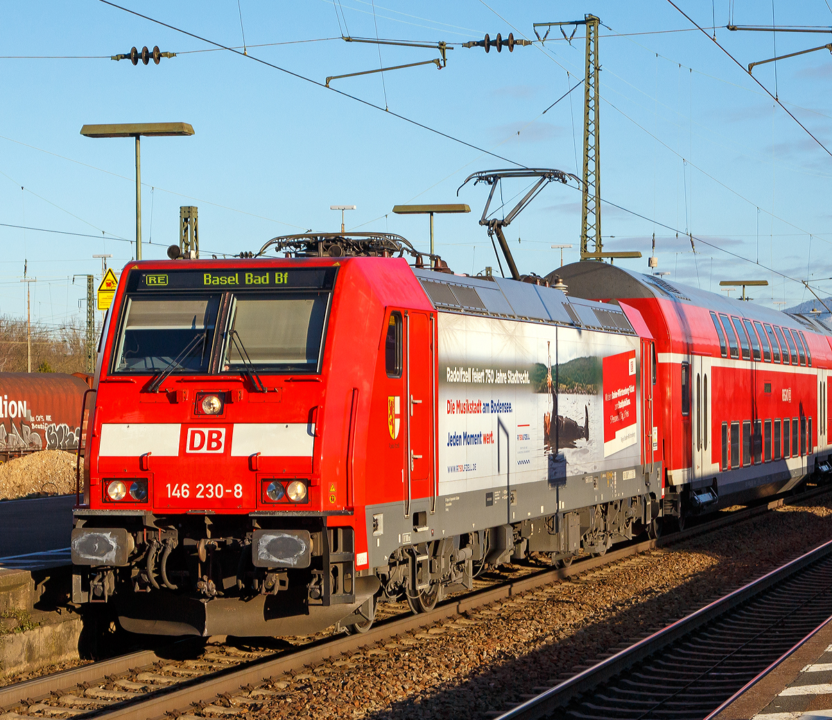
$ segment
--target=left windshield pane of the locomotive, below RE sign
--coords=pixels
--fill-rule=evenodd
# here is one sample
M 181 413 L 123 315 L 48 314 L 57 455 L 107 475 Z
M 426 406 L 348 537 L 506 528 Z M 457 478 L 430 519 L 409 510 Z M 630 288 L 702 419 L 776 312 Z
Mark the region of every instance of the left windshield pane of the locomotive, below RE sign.
M 128 298 L 116 372 L 208 372 L 219 295 Z

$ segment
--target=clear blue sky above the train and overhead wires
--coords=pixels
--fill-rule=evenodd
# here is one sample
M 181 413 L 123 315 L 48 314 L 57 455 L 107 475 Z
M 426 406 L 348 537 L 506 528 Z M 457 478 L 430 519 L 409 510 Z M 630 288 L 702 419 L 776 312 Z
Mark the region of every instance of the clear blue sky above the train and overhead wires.
M 770 32 L 725 29 L 726 0 L 677 4 L 702 27 L 720 26 L 717 40 L 741 65 L 773 56 Z M 810 297 L 775 270 L 832 292 L 825 280 L 832 276 L 832 156 L 669 2 L 240 0 L 238 7 L 223 0 L 125 7 L 228 46 L 241 47 L 245 32 L 250 57 L 215 51 L 103 2 L 3 4 L 0 313 L 25 313 L 24 259 L 37 277 L 32 318 L 59 327 L 83 317 L 85 284 L 72 284 L 72 276 L 100 276 L 92 254 L 113 254 L 110 262 L 120 269 L 135 253 L 132 141 L 82 137 L 84 123 L 186 121 L 196 131 L 142 141 L 145 259 L 164 257 L 176 243 L 180 205 L 199 207 L 203 254 L 230 254 L 259 249 L 280 234 L 339 229 L 340 214 L 329 205 L 357 205 L 348 228 L 403 234 L 427 249 L 427 219 L 393 215 L 393 205 L 464 202 L 470 215 L 436 219 L 438 252 L 459 273 L 486 265 L 496 271 L 478 225 L 487 189 L 467 185 L 458 200 L 456 190 L 475 170 L 516 166 L 508 160 L 576 171 L 581 89 L 542 111 L 582 79 L 582 29 L 571 46 L 557 31 L 545 47 L 536 42 L 513 53 L 455 45 L 441 71 L 426 65 L 332 82 L 357 99 L 254 58 L 323 83 L 379 67 L 379 49 L 384 67 L 438 57 L 429 48 L 347 43 L 342 32 L 434 43 L 478 40 L 485 32 L 534 39 L 532 23 L 586 12 L 605 26 L 602 197 L 624 209 L 603 205 L 604 249 L 641 250 L 643 259 L 624 264 L 646 271 L 655 232 L 658 269 L 670 273 L 667 279 L 714 291 L 721 279 L 768 279 L 771 287 L 755 293 L 761 303 Z M 765 3 L 732 7 L 736 25 L 772 22 Z M 832 26 L 827 0 L 775 2 L 774 10 L 778 24 Z M 829 39 L 778 33 L 776 53 Z M 147 67 L 109 59 L 133 45 L 179 54 Z M 832 150 L 828 52 L 776 68 L 769 63 L 754 74 Z M 399 119 L 385 106 L 506 160 Z M 508 205 L 526 187 L 507 182 L 503 200 Z M 580 200 L 574 187 L 550 185 L 508 227 L 521 271 L 555 268 L 551 244 L 574 244 L 565 259 L 577 259 Z M 695 254 L 686 231 L 699 238 Z

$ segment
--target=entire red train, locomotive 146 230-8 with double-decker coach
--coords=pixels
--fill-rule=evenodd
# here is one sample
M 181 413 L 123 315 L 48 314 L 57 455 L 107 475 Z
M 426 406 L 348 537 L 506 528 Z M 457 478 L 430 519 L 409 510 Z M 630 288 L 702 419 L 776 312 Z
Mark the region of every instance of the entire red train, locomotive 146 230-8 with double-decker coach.
M 802 318 L 600 263 L 568 294 L 427 269 L 389 234 L 272 248 L 121 274 L 72 597 L 133 632 L 364 630 L 379 599 L 600 554 L 828 454 Z

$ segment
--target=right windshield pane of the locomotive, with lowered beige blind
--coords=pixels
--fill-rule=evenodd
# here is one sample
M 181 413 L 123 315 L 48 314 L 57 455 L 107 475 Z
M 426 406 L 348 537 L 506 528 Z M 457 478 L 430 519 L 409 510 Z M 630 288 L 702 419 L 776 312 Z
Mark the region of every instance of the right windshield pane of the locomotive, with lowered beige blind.
M 223 371 L 241 372 L 250 361 L 262 372 L 315 372 L 328 298 L 329 293 L 236 297 Z

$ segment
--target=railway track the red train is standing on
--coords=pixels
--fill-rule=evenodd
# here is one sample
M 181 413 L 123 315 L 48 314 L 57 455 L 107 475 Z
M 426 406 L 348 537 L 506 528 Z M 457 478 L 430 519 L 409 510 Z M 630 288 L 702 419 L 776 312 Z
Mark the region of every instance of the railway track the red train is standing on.
M 304 666 L 313 666 L 327 658 L 352 653 L 397 635 L 418 632 L 438 621 L 464 621 L 464 614 L 494 601 L 551 584 L 557 579 L 580 575 L 630 555 L 748 520 L 780 505 L 807 501 L 828 492 L 829 488 L 821 487 L 789 500 L 779 499 L 739 510 L 689 527 L 681 533 L 658 540 L 634 542 L 602 557 L 587 558 L 570 568 L 526 569 L 528 574 L 525 577 L 475 589 L 472 593 L 449 599 L 426 614 L 412 615 L 393 606 L 386 613 L 379 614 L 379 623 L 366 634 L 339 634 L 300 640 L 294 645 L 286 643 L 284 648 L 276 651 L 251 645 L 203 646 L 200 640 L 195 639 L 17 683 L 0 688 L 0 720 L 59 717 L 63 713 L 77 718 L 94 716 L 144 720 L 173 711 L 182 713 L 191 705 L 203 703 L 206 698 L 217 695 L 225 698 L 225 705 L 209 706 L 210 712 L 234 714 L 235 708 L 239 712 L 275 693 L 274 690 L 256 688 L 268 678 L 297 673 L 299 669 L 302 672 Z M 380 606 L 380 609 L 383 607 Z

